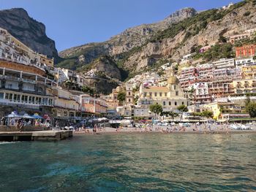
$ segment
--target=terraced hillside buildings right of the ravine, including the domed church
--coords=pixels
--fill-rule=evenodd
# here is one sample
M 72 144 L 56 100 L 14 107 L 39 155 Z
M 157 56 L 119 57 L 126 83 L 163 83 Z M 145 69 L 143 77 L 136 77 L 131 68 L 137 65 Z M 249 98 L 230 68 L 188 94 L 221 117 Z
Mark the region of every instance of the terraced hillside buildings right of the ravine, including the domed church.
M 255 29 L 226 37 L 233 45 L 242 39 L 255 38 Z M 200 48 L 206 52 L 212 45 Z M 138 74 L 123 88 L 113 90 L 106 100 L 118 115 L 151 118 L 151 104 L 161 104 L 164 111 L 178 112 L 188 106 L 190 114 L 209 110 L 216 120 L 248 119 L 246 96 L 256 99 L 256 45 L 235 47 L 236 58 L 221 58 L 206 64 L 195 61 L 195 53 L 184 55 L 181 62 L 165 64 L 159 70 Z M 174 68 L 178 66 L 176 76 Z M 117 95 L 126 93 L 124 104 L 118 106 Z M 120 103 L 119 103 L 120 105 Z M 184 117 L 189 118 L 189 112 Z M 190 117 L 192 118 L 192 117 Z

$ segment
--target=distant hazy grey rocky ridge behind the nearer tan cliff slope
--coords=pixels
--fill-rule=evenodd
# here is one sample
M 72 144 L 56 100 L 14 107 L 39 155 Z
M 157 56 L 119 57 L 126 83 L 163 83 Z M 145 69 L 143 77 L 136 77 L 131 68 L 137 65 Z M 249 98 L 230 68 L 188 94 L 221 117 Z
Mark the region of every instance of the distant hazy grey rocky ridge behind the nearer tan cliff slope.
M 107 42 L 90 43 L 78 47 L 72 47 L 68 50 L 61 51 L 59 55 L 62 58 L 72 59 L 76 59 L 80 55 L 85 55 L 85 64 L 89 64 L 91 61 L 101 55 L 118 55 L 120 53 L 125 53 L 129 50 L 132 50 L 134 47 L 144 45 L 148 39 L 157 33 L 157 31 L 162 31 L 173 23 L 177 23 L 181 20 L 184 20 L 185 18 L 192 17 L 195 14 L 195 9 L 181 9 L 158 23 L 143 24 L 141 26 L 128 28 L 121 34 L 110 38 L 110 40 Z M 60 65 L 67 66 L 67 62 Z

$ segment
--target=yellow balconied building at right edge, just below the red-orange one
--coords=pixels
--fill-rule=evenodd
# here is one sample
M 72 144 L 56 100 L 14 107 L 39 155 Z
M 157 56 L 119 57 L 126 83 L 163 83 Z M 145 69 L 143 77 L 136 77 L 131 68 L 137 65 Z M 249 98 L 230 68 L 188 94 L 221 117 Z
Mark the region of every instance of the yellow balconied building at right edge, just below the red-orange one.
M 235 94 L 256 93 L 256 79 L 233 80 Z

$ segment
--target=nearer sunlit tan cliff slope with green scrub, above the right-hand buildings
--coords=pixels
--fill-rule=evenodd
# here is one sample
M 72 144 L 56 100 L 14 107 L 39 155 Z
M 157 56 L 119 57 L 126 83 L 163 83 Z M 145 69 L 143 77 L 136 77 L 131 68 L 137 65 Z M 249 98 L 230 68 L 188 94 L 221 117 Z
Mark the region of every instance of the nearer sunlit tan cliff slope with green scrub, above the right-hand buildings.
M 123 66 L 129 72 L 140 72 L 159 60 L 178 60 L 193 52 L 193 47 L 214 45 L 220 36 L 241 34 L 251 28 L 256 28 L 256 7 L 252 1 L 242 1 L 226 10 L 200 12 L 156 34 L 130 54 Z

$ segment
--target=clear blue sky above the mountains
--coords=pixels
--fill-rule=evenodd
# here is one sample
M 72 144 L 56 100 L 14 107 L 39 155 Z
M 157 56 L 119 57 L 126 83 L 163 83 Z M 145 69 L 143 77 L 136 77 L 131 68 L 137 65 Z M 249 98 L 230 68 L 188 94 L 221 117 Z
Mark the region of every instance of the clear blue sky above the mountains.
M 45 24 L 58 51 L 102 42 L 142 23 L 162 20 L 184 7 L 222 7 L 240 0 L 0 0 L 0 9 L 22 7 Z

